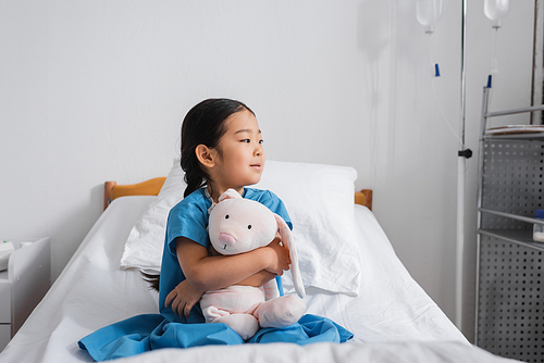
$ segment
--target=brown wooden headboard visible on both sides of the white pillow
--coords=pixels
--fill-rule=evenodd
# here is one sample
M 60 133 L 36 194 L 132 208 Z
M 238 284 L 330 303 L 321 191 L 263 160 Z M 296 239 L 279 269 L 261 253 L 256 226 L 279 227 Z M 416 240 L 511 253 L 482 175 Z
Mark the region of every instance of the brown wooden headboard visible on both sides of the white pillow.
M 103 209 L 106 210 L 112 200 L 126 196 L 158 196 L 165 177 L 152 178 L 138 184 L 118 185 L 116 182 L 104 183 Z M 372 211 L 372 189 L 362 189 L 355 193 L 355 203 L 367 206 Z

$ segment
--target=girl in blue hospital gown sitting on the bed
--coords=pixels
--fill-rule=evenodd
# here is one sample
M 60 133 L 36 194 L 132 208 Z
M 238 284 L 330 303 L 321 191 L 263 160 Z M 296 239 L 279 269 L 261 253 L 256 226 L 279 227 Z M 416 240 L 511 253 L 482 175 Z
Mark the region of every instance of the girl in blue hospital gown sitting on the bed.
M 203 291 L 231 285 L 261 286 L 290 263 L 276 237 L 267 247 L 223 256 L 210 249 L 208 211 L 228 188 L 282 216 L 293 228 L 283 202 L 271 191 L 246 188 L 264 167 L 262 137 L 254 112 L 244 103 L 209 99 L 185 116 L 182 160 L 187 188 L 170 211 L 159 286 L 160 314 L 137 315 L 106 326 L 78 343 L 96 361 L 129 356 L 160 348 L 237 345 L 244 340 L 226 324 L 206 324 L 198 301 Z M 260 329 L 248 342 L 343 342 L 353 335 L 334 322 L 304 315 L 286 328 Z

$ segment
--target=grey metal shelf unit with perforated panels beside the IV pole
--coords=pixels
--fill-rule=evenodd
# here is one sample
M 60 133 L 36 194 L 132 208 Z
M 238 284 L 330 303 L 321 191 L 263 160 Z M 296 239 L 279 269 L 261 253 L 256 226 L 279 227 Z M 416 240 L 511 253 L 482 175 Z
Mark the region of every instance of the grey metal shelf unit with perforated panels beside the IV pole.
M 477 346 L 528 362 L 544 362 L 544 242 L 533 240 L 534 211 L 544 209 L 544 133 L 486 134 L 487 118 L 544 110 L 489 112 L 482 99 L 478 153 Z M 539 324 L 540 325 L 540 324 Z M 529 343 L 531 342 L 531 343 Z

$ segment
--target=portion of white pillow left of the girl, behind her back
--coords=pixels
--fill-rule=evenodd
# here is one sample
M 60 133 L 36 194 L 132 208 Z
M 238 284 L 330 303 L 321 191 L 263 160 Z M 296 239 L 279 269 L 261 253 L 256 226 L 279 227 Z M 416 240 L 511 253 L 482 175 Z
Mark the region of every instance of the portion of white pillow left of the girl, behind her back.
M 183 199 L 183 192 L 187 186 L 183 176 L 180 157 L 174 158 L 174 164 L 159 196 L 131 229 L 121 258 L 121 268 L 139 268 L 148 273 L 160 272 L 166 220 L 172 206 Z

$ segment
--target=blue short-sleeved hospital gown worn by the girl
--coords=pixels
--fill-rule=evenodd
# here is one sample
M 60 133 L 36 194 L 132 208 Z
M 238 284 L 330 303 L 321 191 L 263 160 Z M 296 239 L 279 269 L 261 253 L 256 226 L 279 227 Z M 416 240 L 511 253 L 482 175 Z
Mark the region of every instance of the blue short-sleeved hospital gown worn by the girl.
M 245 188 L 243 197 L 256 200 L 281 215 L 293 229 L 289 215 L 282 200 L 269 190 Z M 169 214 L 162 254 L 159 291 L 160 314 L 143 314 L 108 325 L 79 340 L 78 345 L 96 361 L 131 356 L 160 348 L 190 348 L 207 345 L 240 345 L 245 341 L 231 327 L 222 323 L 206 324 L 200 305 L 196 304 L 188 318 L 180 317 L 172 309 L 164 308 L 164 300 L 185 276 L 180 266 L 175 238 L 186 237 L 208 248 L 207 231 L 212 205 L 206 189 L 196 190 L 177 203 Z M 164 273 L 163 273 L 164 272 Z M 276 277 L 283 295 L 281 277 Z M 351 333 L 333 321 L 306 314 L 298 323 L 286 328 L 263 328 L 247 342 L 295 342 L 307 345 L 318 341 L 344 342 Z

